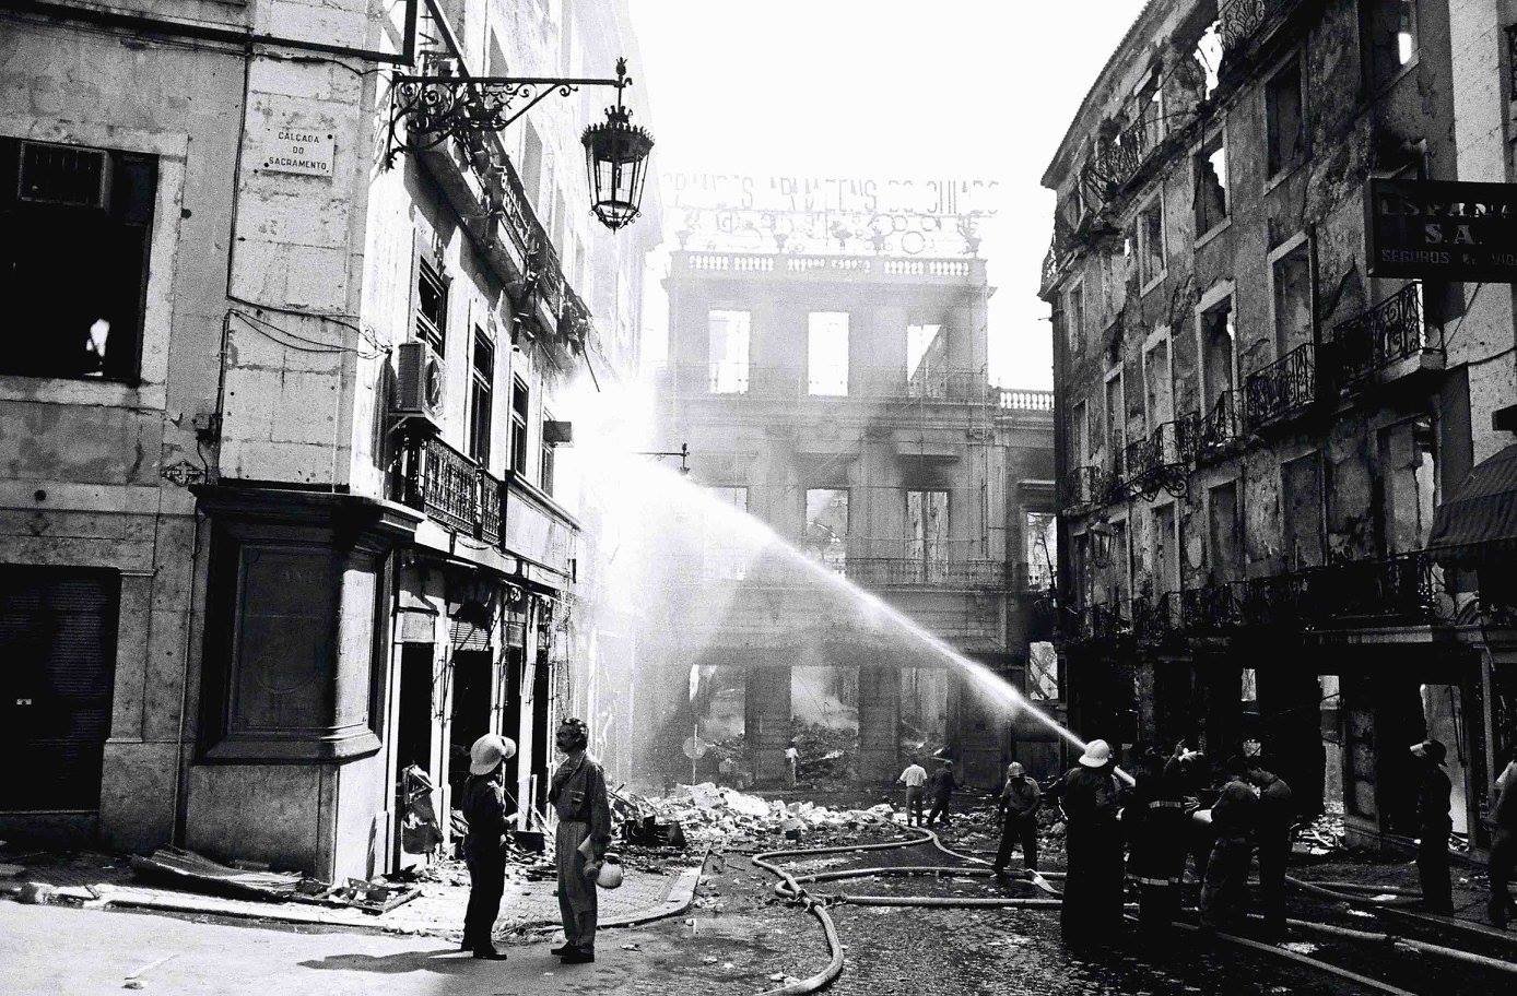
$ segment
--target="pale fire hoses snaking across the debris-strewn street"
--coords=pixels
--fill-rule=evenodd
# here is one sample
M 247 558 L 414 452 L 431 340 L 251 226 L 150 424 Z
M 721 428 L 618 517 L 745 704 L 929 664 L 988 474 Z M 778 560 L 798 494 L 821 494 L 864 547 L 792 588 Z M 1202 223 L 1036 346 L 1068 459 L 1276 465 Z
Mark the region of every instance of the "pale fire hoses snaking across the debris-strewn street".
M 848 879 L 887 876 L 887 875 L 933 875 L 933 876 L 957 876 L 957 878 L 965 878 L 965 876 L 991 876 L 991 875 L 994 875 L 988 867 L 983 867 L 983 866 L 988 864 L 983 858 L 975 858 L 972 855 L 960 853 L 960 852 L 948 847 L 947 844 L 942 843 L 942 840 L 938 837 L 938 834 L 934 834 L 933 831 L 930 831 L 927 828 L 916 828 L 916 829 L 918 829 L 918 832 L 921 835 L 919 837 L 909 837 L 906 840 L 897 840 L 897 841 L 887 841 L 887 843 L 878 843 L 878 844 L 854 844 L 854 846 L 834 846 L 834 847 L 809 847 L 809 849 L 807 847 L 801 847 L 801 849 L 768 850 L 768 852 L 757 853 L 757 855 L 752 857 L 752 863 L 755 866 L 765 869 L 766 872 L 775 875 L 780 879 L 775 884 L 775 894 L 777 896 L 780 896 L 783 899 L 787 899 L 790 902 L 796 902 L 796 904 L 804 905 L 804 908 L 807 910 L 807 913 L 810 913 L 812 916 L 815 916 L 818 919 L 818 922 L 821 922 L 822 929 L 824 929 L 824 932 L 827 935 L 827 951 L 828 951 L 828 955 L 830 955 L 828 964 L 821 972 L 818 972 L 818 973 L 815 973 L 815 975 L 812 975 L 812 976 L 809 976 L 806 979 L 798 979 L 795 982 L 789 982 L 789 984 L 781 985 L 778 988 L 766 990 L 760 996 L 809 996 L 810 993 L 816 993 L 816 991 L 825 988 L 833 981 L 836 981 L 839 975 L 842 975 L 842 969 L 843 969 L 843 946 L 842 946 L 842 941 L 839 940 L 839 935 L 837 935 L 837 925 L 833 922 L 831 914 L 827 911 L 828 907 L 831 907 L 831 905 L 933 907 L 933 908 L 992 908 L 992 910 L 1006 910 L 1006 908 L 1056 910 L 1056 908 L 1059 908 L 1062 905 L 1062 900 L 1059 899 L 1060 893 L 1054 891 L 1048 885 L 1048 882 L 1045 881 L 1047 878 L 1063 878 L 1063 875 L 1057 873 L 1057 872 L 1051 872 L 1051 873 L 1047 873 L 1047 875 L 1039 875 L 1039 873 L 1035 872 L 1032 875 L 1032 878 L 1022 879 L 1022 881 L 1025 881 L 1025 882 L 1029 882 L 1032 885 L 1036 885 L 1038 888 L 1050 893 L 1050 897 L 1029 897 L 1029 896 L 1006 896 L 1006 897 L 966 897 L 966 896 L 853 896 L 853 894 L 836 894 L 836 896 L 813 897 L 804 888 L 802 882 L 807 882 L 807 884 L 833 882 L 833 881 L 848 881 Z M 775 864 L 777 860 L 783 860 L 783 858 L 818 858 L 818 857 L 839 855 L 839 853 L 863 853 L 863 852 L 871 852 L 871 850 L 892 850 L 892 849 L 903 849 L 903 847 L 915 847 L 918 844 L 927 844 L 927 843 L 933 844 L 933 847 L 936 847 L 938 850 L 941 850 L 941 852 L 944 852 L 944 853 L 947 853 L 947 855 L 950 855 L 953 858 L 957 858 L 957 860 L 966 861 L 966 863 L 972 863 L 972 864 L 977 864 L 977 866 L 981 866 L 981 867 L 963 867 L 963 866 L 894 866 L 894 867 L 880 867 L 880 869 L 851 869 L 851 870 L 839 870 L 839 872 L 815 872 L 815 873 L 809 873 L 809 875 L 792 875 L 787 870 L 784 870 L 783 867 L 780 867 L 778 864 Z M 1288 878 L 1286 881 L 1289 881 L 1292 885 L 1296 885 L 1297 888 L 1302 888 L 1302 890 L 1305 890 L 1308 893 L 1321 894 L 1321 896 L 1326 896 L 1326 897 L 1332 897 L 1332 899 L 1338 899 L 1338 900 L 1347 900 L 1347 902 L 1371 902 L 1370 897 L 1352 896 L 1352 894 L 1347 894 L 1347 893 L 1333 891 L 1330 888 L 1326 888 L 1321 884 L 1305 882 L 1305 881 L 1300 881 L 1300 879 L 1296 879 L 1296 878 Z M 1332 885 L 1340 885 L 1340 884 L 1338 882 L 1332 882 Z M 1367 887 L 1356 887 L 1356 888 L 1365 888 L 1367 890 Z M 1377 890 L 1376 897 L 1373 899 L 1373 902 L 1376 905 L 1406 905 L 1408 902 L 1415 902 L 1417 900 L 1417 896 L 1414 896 L 1411 893 L 1412 893 L 1412 890 Z M 1133 919 L 1133 917 L 1129 914 L 1129 919 Z M 1385 946 L 1393 947 L 1393 949 L 1397 947 L 1397 946 L 1400 946 L 1403 949 L 1415 951 L 1415 952 L 1423 954 L 1423 955 L 1434 955 L 1434 957 L 1438 957 L 1438 958 L 1447 958 L 1447 960 L 1452 960 L 1452 961 L 1459 961 L 1459 963 L 1470 964 L 1470 966 L 1481 967 L 1481 969 L 1487 969 L 1487 970 L 1502 972 L 1502 973 L 1506 973 L 1506 975 L 1517 975 L 1517 964 L 1511 964 L 1511 963 L 1502 961 L 1499 958 L 1488 958 L 1485 955 L 1479 955 L 1479 954 L 1468 952 L 1468 951 L 1461 951 L 1461 949 L 1456 949 L 1456 947 L 1446 947 L 1443 944 L 1432 944 L 1432 943 L 1427 943 L 1427 941 L 1417 941 L 1417 940 L 1411 940 L 1411 938 L 1396 937 L 1396 935 L 1391 935 L 1391 934 L 1376 934 L 1376 932 L 1370 932 L 1370 931 L 1355 931 L 1355 929 L 1350 929 L 1350 928 L 1340 928 L 1340 926 L 1333 926 L 1333 925 L 1327 925 L 1327 923 L 1312 923 L 1312 922 L 1296 920 L 1296 919 L 1286 920 L 1286 923 L 1291 928 L 1299 929 L 1299 931 L 1309 931 L 1309 932 L 1317 932 L 1317 934 L 1323 934 L 1323 935 L 1341 937 L 1341 938 L 1346 938 L 1346 940 L 1358 940 L 1358 941 L 1385 944 Z M 1179 929 L 1183 929 L 1183 931 L 1191 931 L 1191 932 L 1201 931 L 1201 928 L 1198 928 L 1195 925 L 1191 925 L 1191 923 L 1179 923 L 1177 922 L 1174 926 L 1179 928 Z M 1214 932 L 1212 937 L 1217 937 L 1218 940 L 1224 940 L 1224 941 L 1229 941 L 1229 943 L 1241 946 L 1241 947 L 1247 947 L 1250 951 L 1258 951 L 1258 952 L 1262 952 L 1262 954 L 1270 954 L 1270 955 L 1273 955 L 1276 958 L 1283 958 L 1283 960 L 1292 961 L 1296 964 L 1308 966 L 1308 967 L 1312 967 L 1312 969 L 1315 969 L 1318 972 L 1324 972 L 1327 975 L 1335 975 L 1338 978 L 1352 981 L 1352 982 L 1355 982 L 1358 985 L 1364 985 L 1365 988 L 1371 988 L 1371 990 L 1376 990 L 1376 991 L 1380 991 L 1380 993 L 1387 993 L 1387 996 L 1415 996 L 1414 993 L 1411 993 L 1408 990 L 1403 990 L 1403 988 L 1399 988 L 1399 987 L 1394 987 L 1394 985 L 1390 985 L 1388 982 L 1380 982 L 1379 979 L 1373 979 L 1373 978 L 1368 978 L 1365 975 L 1359 975 L 1356 972 L 1350 972 L 1349 969 L 1335 966 L 1335 964 L 1332 964 L 1329 961 L 1323 961 L 1320 958 L 1312 958 L 1309 955 L 1305 955 L 1305 954 L 1300 954 L 1300 952 L 1296 952 L 1296 951 L 1289 951 L 1286 947 L 1280 947 L 1280 946 L 1276 946 L 1276 944 L 1268 944 L 1268 943 L 1258 941 L 1258 940 L 1253 940 L 1253 938 L 1248 938 L 1248 937 L 1239 937 L 1236 934 Z

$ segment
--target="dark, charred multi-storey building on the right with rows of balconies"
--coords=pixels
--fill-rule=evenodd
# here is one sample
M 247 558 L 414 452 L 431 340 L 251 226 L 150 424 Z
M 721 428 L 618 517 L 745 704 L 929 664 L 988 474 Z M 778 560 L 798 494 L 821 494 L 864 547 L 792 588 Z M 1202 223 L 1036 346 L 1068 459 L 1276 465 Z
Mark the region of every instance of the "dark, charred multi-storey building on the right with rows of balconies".
M 1511 179 L 1499 8 L 1154 0 L 1044 176 L 1073 723 L 1262 744 L 1361 841 L 1432 735 L 1484 846 L 1512 743 L 1503 585 L 1435 535 L 1511 443 L 1511 290 L 1373 276 L 1365 230 L 1371 179 Z

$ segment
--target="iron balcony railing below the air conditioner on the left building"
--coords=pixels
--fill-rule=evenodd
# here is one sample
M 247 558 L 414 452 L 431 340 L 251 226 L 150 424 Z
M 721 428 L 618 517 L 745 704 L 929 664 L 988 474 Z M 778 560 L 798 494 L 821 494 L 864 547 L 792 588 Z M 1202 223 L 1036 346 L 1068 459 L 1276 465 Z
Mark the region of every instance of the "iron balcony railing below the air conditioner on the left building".
M 394 496 L 455 532 L 501 544 L 501 482 L 441 440 L 407 440 Z

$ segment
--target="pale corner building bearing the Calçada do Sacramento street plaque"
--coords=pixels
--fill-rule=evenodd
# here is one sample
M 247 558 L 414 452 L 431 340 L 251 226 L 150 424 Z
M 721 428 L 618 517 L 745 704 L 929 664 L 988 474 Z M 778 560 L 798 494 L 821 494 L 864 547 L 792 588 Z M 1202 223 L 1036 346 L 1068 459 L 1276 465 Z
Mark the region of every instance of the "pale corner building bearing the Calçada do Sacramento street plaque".
M 595 582 L 557 405 L 636 367 L 657 193 L 583 208 L 605 89 L 390 159 L 391 86 L 611 76 L 623 6 L 49 6 L 0 12 L 0 834 L 367 878 L 487 731 L 540 807 Z

